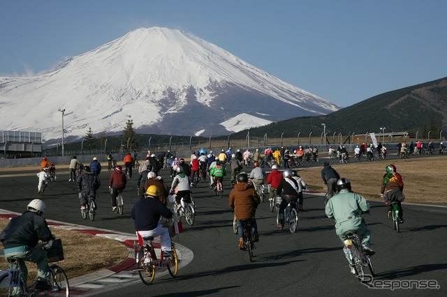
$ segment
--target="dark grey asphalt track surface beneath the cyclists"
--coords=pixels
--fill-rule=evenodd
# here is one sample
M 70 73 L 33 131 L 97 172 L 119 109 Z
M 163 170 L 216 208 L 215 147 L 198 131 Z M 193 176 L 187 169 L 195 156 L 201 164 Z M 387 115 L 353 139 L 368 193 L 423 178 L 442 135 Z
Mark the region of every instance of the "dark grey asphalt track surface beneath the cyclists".
M 0 178 L 0 208 L 22 212 L 31 199 L 38 198 L 36 175 L 22 173 L 28 174 Z M 81 218 L 77 185 L 68 182 L 68 173 L 59 172 L 57 181 L 50 183 L 43 197 L 47 205 L 45 218 L 133 233 L 130 211 L 138 199 L 136 176 L 123 193 L 124 215 L 118 215 L 110 206 L 110 172 L 101 172 L 98 211 L 91 222 Z M 170 185 L 168 169 L 161 176 Z M 184 233 L 173 238 L 193 252 L 193 260 L 179 270 L 178 277 L 159 277 L 149 286 L 132 282 L 98 296 L 446 296 L 446 208 L 404 204 L 405 222 L 397 234 L 387 218 L 386 206 L 370 201 L 371 215 L 364 218 L 376 251 L 372 257 L 376 277 L 369 284 L 376 289 L 372 289 L 360 283 L 346 267 L 334 221 L 324 213 L 323 197 L 305 195 L 305 211 L 298 215 L 295 234 L 277 229 L 268 203 L 258 206 L 260 241 L 256 243 L 254 262 L 250 262 L 248 252 L 237 248 L 238 238 L 233 234 L 228 177 L 223 186 L 221 199 L 208 183 L 193 189 L 196 222 L 193 226 L 183 222 Z M 135 280 L 139 280 L 138 275 Z M 418 286 L 437 289 L 416 289 Z

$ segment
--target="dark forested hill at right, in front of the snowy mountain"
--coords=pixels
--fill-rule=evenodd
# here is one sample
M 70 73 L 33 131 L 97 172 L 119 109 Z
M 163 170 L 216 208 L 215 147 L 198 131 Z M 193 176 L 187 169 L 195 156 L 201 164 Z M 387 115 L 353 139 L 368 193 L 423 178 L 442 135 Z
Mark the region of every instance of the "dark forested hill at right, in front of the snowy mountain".
M 441 130 L 447 133 L 447 77 L 432 82 L 425 82 L 403 89 L 389 91 L 374 96 L 355 105 L 345 107 L 326 116 L 304 116 L 286 121 L 271 123 L 259 128 L 243 130 L 231 135 L 232 138 L 243 138 L 249 131 L 250 136 L 297 137 L 301 135 L 321 135 L 323 125 L 328 135 L 342 132 L 363 134 L 379 132 L 386 127 L 386 132 L 408 131 L 419 136 L 439 135 Z

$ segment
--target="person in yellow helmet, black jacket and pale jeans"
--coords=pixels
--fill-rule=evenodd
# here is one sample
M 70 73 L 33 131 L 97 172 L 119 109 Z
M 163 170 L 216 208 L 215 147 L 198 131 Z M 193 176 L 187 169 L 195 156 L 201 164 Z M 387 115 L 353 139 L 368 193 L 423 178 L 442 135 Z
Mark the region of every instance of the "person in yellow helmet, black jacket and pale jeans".
M 146 198 L 136 201 L 131 211 L 131 217 L 135 220 L 135 231 L 143 238 L 160 236 L 163 257 L 170 257 L 173 252 L 169 230 L 163 227 L 159 220 L 161 216 L 167 219 L 173 218 L 173 213 L 156 199 L 159 196 L 159 188 L 155 185 L 147 188 L 146 195 Z

